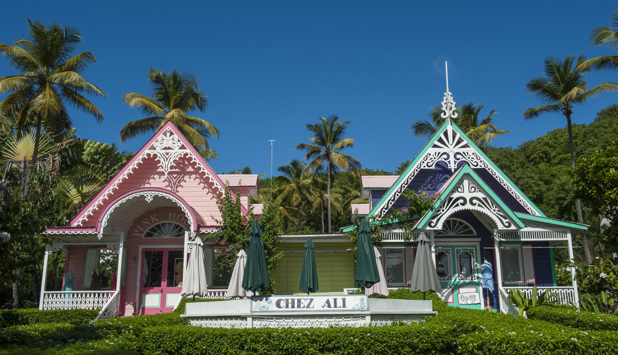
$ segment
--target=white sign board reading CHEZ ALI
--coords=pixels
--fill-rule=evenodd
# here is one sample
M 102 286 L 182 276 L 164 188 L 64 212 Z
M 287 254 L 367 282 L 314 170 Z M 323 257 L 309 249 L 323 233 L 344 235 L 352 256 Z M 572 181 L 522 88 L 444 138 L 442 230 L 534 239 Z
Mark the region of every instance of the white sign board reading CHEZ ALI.
M 334 296 L 253 296 L 252 312 L 340 312 L 368 311 L 366 294 Z

